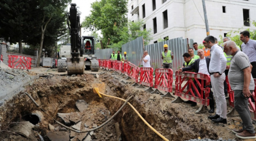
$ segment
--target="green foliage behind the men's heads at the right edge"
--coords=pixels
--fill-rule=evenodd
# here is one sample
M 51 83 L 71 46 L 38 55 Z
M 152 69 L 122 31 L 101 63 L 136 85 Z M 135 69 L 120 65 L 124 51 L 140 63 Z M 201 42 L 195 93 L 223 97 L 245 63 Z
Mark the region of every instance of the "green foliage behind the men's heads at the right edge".
M 256 27 L 256 22 L 255 21 L 252 21 L 252 25 L 254 25 Z M 252 40 L 256 40 L 256 30 L 254 31 L 250 31 L 250 29 L 245 29 L 247 31 L 250 32 L 250 39 Z M 241 40 L 240 40 L 240 31 L 244 31 L 244 29 L 238 29 L 238 31 L 230 31 L 226 34 L 227 37 L 230 37 L 232 41 L 234 41 L 236 43 L 236 45 L 239 45 L 241 47 L 242 43 Z M 219 36 L 221 38 L 220 41 L 218 41 L 218 44 L 220 45 L 223 45 L 223 36 L 220 35 Z

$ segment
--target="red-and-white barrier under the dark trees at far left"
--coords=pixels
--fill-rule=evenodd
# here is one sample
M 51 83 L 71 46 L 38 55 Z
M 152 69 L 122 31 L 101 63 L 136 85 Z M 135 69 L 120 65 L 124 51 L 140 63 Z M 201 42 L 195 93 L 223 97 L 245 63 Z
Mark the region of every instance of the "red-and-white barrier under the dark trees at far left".
M 9 55 L 8 66 L 13 69 L 31 69 L 31 58 Z

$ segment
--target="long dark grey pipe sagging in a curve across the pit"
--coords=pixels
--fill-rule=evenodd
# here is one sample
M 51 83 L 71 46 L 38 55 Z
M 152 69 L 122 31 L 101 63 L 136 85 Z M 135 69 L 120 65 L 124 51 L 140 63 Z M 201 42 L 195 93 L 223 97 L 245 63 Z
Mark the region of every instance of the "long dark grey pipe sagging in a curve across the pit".
M 32 98 L 32 96 L 30 96 L 30 94 L 28 94 L 27 92 L 25 92 L 25 94 L 33 101 L 33 103 L 34 103 L 37 107 L 41 108 L 41 107 L 37 104 L 37 102 L 35 102 L 35 100 Z M 54 121 L 56 121 L 56 123 L 58 123 L 58 124 L 61 125 L 62 127 L 66 128 L 66 129 L 69 129 L 69 130 L 71 130 L 71 131 L 73 131 L 73 132 L 76 132 L 76 133 L 85 133 L 85 132 L 91 132 L 91 131 L 97 130 L 97 129 L 103 127 L 104 125 L 106 125 L 106 124 L 107 124 L 109 121 L 111 121 L 115 116 L 117 116 L 117 114 L 118 114 L 119 112 L 121 112 L 122 108 L 124 108 L 124 106 L 128 103 L 128 101 L 129 101 L 133 96 L 134 96 L 134 95 L 130 96 L 127 100 L 124 100 L 125 103 L 122 105 L 122 107 L 119 108 L 119 110 L 118 110 L 113 116 L 111 116 L 107 121 L 105 121 L 104 123 L 102 123 L 102 125 L 100 125 L 100 126 L 98 126 L 98 127 L 96 127 L 96 128 L 93 128 L 93 129 L 91 129 L 91 130 L 84 130 L 84 131 L 78 131 L 78 130 L 72 129 L 72 128 L 70 128 L 70 127 L 67 127 L 66 125 L 63 125 L 62 123 L 60 123 L 59 121 L 57 121 L 56 119 L 54 119 L 52 116 L 50 116 L 47 112 L 45 112 L 45 110 L 44 110 L 43 108 L 41 108 L 41 109 L 42 109 L 48 116 L 50 116 Z

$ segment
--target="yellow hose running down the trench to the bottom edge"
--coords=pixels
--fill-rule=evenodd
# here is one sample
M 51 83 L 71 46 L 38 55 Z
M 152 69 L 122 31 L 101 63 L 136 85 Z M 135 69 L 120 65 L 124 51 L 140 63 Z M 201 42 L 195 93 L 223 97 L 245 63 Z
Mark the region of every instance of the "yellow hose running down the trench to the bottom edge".
M 126 101 L 125 99 L 122 99 L 122 98 L 118 98 L 118 97 L 115 97 L 115 96 L 109 96 L 109 95 L 106 95 L 106 94 L 103 94 L 99 91 L 98 87 L 95 87 L 94 88 L 97 92 L 97 94 L 100 96 L 100 98 L 102 98 L 101 95 L 103 96 L 108 96 L 110 98 L 116 98 L 116 99 L 119 99 L 119 100 L 122 100 L 122 101 Z M 134 111 L 138 114 L 138 116 L 144 121 L 144 123 L 150 128 L 152 129 L 156 134 L 158 134 L 158 136 L 160 136 L 163 140 L 165 141 L 169 141 L 166 137 L 164 137 L 163 135 L 161 135 L 156 129 L 154 129 L 151 125 L 148 124 L 148 122 L 141 116 L 141 114 L 139 114 L 139 112 L 132 106 L 131 103 L 128 102 L 128 104 L 130 105 L 130 107 L 132 107 L 132 109 L 134 109 Z

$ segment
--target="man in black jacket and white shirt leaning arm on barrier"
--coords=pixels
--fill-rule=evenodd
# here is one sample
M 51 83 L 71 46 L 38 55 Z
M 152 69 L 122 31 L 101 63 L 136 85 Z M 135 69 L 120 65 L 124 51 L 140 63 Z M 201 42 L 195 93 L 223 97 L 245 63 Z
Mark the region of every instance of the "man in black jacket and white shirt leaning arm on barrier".
M 202 73 L 202 74 L 207 74 L 210 76 L 210 72 L 209 72 L 209 64 L 210 64 L 210 60 L 211 58 L 206 58 L 204 56 L 204 51 L 202 49 L 198 49 L 197 51 L 198 56 L 200 56 L 199 59 L 195 60 L 195 63 L 193 63 L 192 65 L 185 67 L 185 68 L 180 68 L 178 71 L 190 71 L 192 69 L 195 69 L 196 73 Z M 205 84 L 205 83 L 204 83 Z M 198 91 L 200 91 L 200 88 L 197 87 Z M 214 112 L 214 100 L 213 100 L 213 94 L 210 90 L 210 94 L 209 94 L 209 99 L 210 99 L 210 110 L 208 111 L 209 113 L 213 113 Z

